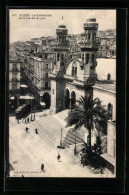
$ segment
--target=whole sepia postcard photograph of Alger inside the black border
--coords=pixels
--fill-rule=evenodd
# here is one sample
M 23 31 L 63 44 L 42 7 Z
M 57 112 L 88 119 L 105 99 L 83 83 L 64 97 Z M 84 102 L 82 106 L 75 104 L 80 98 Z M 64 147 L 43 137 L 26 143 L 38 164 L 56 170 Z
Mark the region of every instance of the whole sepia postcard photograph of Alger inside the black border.
M 116 9 L 9 9 L 9 177 L 116 178 Z

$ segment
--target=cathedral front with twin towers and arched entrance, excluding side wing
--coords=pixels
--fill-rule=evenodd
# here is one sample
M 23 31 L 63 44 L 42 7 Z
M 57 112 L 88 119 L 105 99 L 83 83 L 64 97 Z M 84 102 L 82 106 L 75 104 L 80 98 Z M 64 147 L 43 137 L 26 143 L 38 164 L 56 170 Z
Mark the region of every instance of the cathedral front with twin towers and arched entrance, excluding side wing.
M 71 55 L 68 49 L 68 29 L 64 20 L 56 29 L 57 45 L 54 48 L 56 63 L 49 74 L 51 82 L 50 113 L 55 114 L 70 109 L 81 96 L 93 93 L 96 80 L 96 57 L 99 43 L 96 39 L 98 23 L 90 17 L 84 23 L 84 41 L 81 43 L 80 57 Z

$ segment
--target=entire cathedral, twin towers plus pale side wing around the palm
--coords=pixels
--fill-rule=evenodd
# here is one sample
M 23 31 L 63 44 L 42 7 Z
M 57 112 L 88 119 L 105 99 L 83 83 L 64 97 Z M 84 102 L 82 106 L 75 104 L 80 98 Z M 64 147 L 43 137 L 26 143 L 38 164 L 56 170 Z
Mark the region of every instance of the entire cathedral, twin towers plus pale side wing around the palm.
M 57 39 L 60 40 L 55 49 L 56 64 L 49 74 L 51 80 L 51 107 L 50 113 L 55 114 L 64 109 L 70 109 L 78 104 L 81 96 L 93 94 L 94 98 L 102 100 L 102 105 L 111 113 L 111 120 L 107 123 L 105 133 L 101 133 L 99 127 L 94 126 L 92 140 L 96 140 L 96 133 L 106 136 L 106 152 L 102 154 L 105 159 L 106 173 L 114 174 L 115 170 L 115 143 L 116 143 L 116 93 L 115 82 L 110 75 L 106 75 L 106 81 L 96 81 L 97 51 L 99 39 L 96 38 L 98 23 L 95 18 L 89 18 L 84 24 L 84 40 L 80 43 L 79 52 L 69 56 L 67 49 L 67 29 L 62 20 L 56 30 Z M 66 60 L 67 59 L 67 60 Z M 106 73 L 107 74 L 107 73 Z M 85 130 L 84 130 L 85 131 Z M 87 141 L 85 131 L 84 140 Z M 92 142 L 93 144 L 93 142 Z

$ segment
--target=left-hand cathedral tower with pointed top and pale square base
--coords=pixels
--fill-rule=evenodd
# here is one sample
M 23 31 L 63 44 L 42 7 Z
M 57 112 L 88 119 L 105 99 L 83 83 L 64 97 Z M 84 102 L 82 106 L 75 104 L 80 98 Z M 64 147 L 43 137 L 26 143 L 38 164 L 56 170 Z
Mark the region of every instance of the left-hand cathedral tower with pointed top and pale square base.
M 49 74 L 51 81 L 51 107 L 50 113 L 55 114 L 64 109 L 64 89 L 65 81 L 63 75 L 65 74 L 67 56 L 68 56 L 68 30 L 64 23 L 63 17 L 56 29 L 57 44 L 55 51 L 55 65 L 53 71 Z

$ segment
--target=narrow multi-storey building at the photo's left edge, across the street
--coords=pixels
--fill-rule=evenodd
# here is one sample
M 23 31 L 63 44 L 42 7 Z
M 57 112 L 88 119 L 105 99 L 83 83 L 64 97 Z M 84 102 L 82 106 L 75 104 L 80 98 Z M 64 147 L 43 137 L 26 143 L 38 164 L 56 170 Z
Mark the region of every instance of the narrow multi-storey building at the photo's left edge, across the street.
M 17 59 L 9 60 L 9 105 L 14 109 L 19 106 L 20 99 L 20 63 Z

